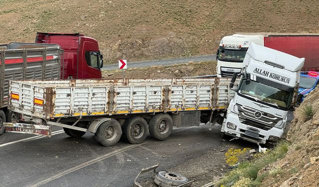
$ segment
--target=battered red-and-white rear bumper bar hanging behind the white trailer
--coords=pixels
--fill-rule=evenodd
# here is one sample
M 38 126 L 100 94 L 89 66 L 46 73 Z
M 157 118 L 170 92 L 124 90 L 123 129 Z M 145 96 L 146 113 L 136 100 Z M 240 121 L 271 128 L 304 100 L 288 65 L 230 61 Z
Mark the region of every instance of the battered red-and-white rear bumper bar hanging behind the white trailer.
M 33 125 L 24 123 L 3 123 L 5 131 L 13 133 L 34 134 L 51 136 L 52 126 L 47 125 Z

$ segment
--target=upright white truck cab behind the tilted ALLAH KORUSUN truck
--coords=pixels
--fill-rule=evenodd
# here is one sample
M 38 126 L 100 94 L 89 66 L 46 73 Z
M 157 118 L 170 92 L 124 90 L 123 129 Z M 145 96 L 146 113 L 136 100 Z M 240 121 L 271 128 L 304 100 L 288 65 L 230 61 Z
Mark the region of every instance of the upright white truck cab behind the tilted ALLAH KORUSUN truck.
M 251 42 L 264 46 L 264 36 L 233 34 L 222 38 L 216 53 L 218 77 L 231 77 L 234 72 L 242 72 Z

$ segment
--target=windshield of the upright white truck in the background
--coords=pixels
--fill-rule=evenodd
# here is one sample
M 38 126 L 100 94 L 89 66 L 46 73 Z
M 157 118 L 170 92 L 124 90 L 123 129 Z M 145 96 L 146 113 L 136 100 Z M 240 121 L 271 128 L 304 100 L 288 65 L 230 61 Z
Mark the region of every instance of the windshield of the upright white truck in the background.
M 220 46 L 218 59 L 226 62 L 243 62 L 246 52 L 245 49 L 225 49 Z

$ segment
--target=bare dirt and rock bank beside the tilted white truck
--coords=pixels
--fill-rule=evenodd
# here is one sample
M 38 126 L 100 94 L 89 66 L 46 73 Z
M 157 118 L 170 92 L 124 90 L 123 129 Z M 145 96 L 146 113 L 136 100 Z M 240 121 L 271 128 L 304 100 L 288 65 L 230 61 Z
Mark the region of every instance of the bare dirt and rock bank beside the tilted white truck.
M 305 108 L 313 109 L 306 119 Z M 294 113 L 287 139 L 292 145 L 286 157 L 269 170 L 279 170 L 276 177 L 263 180 L 265 187 L 319 187 L 319 89 L 313 91 Z

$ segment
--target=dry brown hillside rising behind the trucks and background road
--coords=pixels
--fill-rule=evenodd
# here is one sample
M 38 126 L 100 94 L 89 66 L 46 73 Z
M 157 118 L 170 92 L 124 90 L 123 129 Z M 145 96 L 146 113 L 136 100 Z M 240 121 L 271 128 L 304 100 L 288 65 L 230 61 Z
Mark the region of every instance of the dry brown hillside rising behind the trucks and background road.
M 96 38 L 106 62 L 215 53 L 234 32 L 319 32 L 317 0 L 0 0 L 0 43 Z

